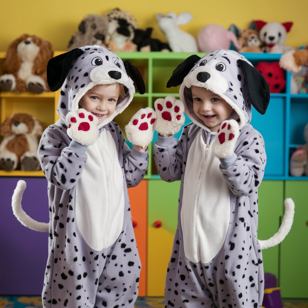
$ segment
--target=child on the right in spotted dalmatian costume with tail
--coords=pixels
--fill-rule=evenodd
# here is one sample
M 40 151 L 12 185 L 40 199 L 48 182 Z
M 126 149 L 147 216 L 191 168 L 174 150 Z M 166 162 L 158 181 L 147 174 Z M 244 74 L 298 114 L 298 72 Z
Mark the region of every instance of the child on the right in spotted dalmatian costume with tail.
M 181 179 L 165 307 L 261 307 L 264 275 L 257 240 L 257 190 L 266 154 L 262 136 L 249 122 L 251 105 L 265 113 L 269 86 L 247 59 L 228 50 L 201 59 L 190 56 L 173 72 L 167 87 L 179 84 L 180 100 L 166 97 L 154 103 L 158 172 L 167 182 Z M 202 93 L 211 93 L 212 107 L 224 102 L 222 109 L 200 107 Z M 184 110 L 193 123 L 177 140 L 172 135 L 183 124 Z M 290 230 L 291 199 L 286 209 L 284 234 L 278 231 L 264 247 L 277 244 Z

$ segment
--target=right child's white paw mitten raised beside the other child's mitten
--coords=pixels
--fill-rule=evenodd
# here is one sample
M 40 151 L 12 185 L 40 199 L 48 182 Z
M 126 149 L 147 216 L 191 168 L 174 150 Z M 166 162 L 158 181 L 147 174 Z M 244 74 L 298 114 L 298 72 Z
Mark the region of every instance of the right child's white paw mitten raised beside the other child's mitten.
M 156 99 L 154 107 L 157 115 L 155 130 L 161 136 L 175 135 L 185 122 L 184 104 L 174 96 Z

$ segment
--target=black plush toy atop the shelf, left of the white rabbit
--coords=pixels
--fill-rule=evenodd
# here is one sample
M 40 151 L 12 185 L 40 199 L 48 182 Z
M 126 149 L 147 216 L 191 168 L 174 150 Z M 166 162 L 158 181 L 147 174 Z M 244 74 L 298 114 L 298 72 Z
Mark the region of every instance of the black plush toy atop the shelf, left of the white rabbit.
M 138 51 L 171 51 L 168 43 L 161 42 L 159 39 L 151 38 L 153 28 L 146 30 L 136 29 L 133 43 L 137 45 Z

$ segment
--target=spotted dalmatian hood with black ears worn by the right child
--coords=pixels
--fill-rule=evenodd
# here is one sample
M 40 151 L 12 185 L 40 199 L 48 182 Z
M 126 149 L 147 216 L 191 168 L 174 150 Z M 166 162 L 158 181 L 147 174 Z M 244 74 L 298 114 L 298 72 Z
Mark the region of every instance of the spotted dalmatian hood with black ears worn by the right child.
M 206 129 L 193 111 L 191 86 L 205 87 L 229 103 L 234 110 L 229 119 L 237 120 L 240 129 L 251 120 L 251 105 L 264 114 L 270 101 L 265 78 L 244 56 L 231 50 L 219 49 L 202 58 L 188 57 L 173 71 L 167 87 L 179 84 L 185 113 Z

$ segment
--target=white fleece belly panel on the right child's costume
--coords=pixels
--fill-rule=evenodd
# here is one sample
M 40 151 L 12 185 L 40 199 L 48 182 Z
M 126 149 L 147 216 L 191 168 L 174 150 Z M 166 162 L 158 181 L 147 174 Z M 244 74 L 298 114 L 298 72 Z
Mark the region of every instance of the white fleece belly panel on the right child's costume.
M 188 152 L 184 174 L 181 226 L 184 253 L 192 262 L 208 263 L 221 249 L 230 221 L 230 192 L 201 132 Z

